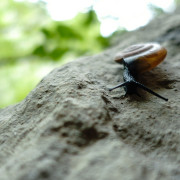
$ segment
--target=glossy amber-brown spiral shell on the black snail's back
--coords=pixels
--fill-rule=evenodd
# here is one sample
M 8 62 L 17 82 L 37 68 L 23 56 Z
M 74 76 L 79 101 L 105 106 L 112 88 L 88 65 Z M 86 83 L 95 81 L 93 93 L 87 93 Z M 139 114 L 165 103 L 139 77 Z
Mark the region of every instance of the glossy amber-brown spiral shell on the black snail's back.
M 118 53 L 115 61 L 123 60 L 138 73 L 149 71 L 161 63 L 166 57 L 167 50 L 158 43 L 132 45 Z

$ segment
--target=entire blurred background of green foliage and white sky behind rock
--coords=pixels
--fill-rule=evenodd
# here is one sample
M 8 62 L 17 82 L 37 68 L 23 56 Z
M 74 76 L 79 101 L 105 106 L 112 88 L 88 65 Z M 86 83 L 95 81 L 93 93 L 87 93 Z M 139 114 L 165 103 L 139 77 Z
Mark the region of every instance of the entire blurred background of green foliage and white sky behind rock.
M 0 108 L 54 67 L 103 51 L 112 37 L 175 10 L 178 0 L 1 0 Z

